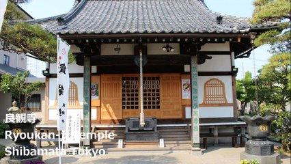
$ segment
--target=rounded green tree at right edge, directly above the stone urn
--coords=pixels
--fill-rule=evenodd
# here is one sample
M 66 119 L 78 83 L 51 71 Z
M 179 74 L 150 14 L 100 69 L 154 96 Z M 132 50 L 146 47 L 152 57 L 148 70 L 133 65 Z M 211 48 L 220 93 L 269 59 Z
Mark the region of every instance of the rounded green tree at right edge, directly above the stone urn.
M 286 111 L 290 102 L 290 53 L 279 53 L 268 59 L 269 63 L 259 70 L 258 92 L 266 104 L 280 105 Z

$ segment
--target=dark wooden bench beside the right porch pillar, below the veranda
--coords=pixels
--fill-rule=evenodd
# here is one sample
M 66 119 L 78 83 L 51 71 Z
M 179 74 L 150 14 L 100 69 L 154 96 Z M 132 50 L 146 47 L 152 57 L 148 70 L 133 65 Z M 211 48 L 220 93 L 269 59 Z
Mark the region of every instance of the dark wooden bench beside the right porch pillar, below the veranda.
M 218 136 L 214 136 L 213 133 L 202 133 L 200 134 L 200 138 L 203 140 L 203 148 L 207 149 L 207 139 L 215 139 L 215 138 L 232 138 L 232 147 L 238 148 L 238 135 L 236 133 L 219 133 Z

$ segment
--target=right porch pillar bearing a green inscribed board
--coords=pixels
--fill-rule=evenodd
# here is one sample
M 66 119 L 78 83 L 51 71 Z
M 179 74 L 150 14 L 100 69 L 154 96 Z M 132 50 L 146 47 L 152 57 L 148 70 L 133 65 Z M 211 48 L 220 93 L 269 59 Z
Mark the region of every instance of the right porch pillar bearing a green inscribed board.
M 192 150 L 199 151 L 199 109 L 198 109 L 198 58 L 197 55 L 191 55 L 191 148 Z

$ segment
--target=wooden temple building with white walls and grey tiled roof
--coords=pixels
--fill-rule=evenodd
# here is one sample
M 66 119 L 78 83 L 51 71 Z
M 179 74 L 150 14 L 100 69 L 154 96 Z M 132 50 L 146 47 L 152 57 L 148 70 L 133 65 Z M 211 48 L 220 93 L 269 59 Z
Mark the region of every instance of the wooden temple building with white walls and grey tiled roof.
M 277 27 L 212 12 L 203 0 L 76 0 L 68 14 L 30 22 L 70 44 L 68 111 L 81 111 L 84 129 L 118 128 L 126 145 L 126 119 L 143 108 L 166 147 L 185 141 L 189 149 L 205 142 L 204 132 L 216 144 L 225 133 L 234 144 L 227 134 L 244 131 L 234 60 L 249 57 L 255 37 Z M 40 128 L 57 124 L 57 64 L 48 71 Z

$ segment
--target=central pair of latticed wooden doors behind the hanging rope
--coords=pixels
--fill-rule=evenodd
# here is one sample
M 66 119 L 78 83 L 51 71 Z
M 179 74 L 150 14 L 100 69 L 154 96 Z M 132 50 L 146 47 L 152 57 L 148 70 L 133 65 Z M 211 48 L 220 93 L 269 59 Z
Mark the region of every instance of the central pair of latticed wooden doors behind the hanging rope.
M 140 79 L 137 74 L 122 77 L 122 117 L 139 117 L 141 110 Z M 143 109 L 146 117 L 160 118 L 160 77 L 143 77 Z

